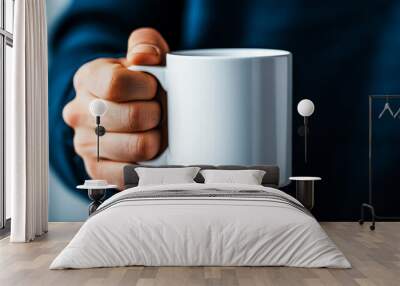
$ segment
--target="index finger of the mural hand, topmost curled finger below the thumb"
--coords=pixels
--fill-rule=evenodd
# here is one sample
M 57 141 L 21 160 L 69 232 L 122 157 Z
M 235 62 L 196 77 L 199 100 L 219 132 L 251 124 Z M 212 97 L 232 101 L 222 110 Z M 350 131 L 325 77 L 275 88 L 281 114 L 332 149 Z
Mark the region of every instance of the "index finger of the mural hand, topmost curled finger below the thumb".
M 152 99 L 157 81 L 147 73 L 128 70 L 119 59 L 97 59 L 76 72 L 74 87 L 109 101 L 127 102 Z

